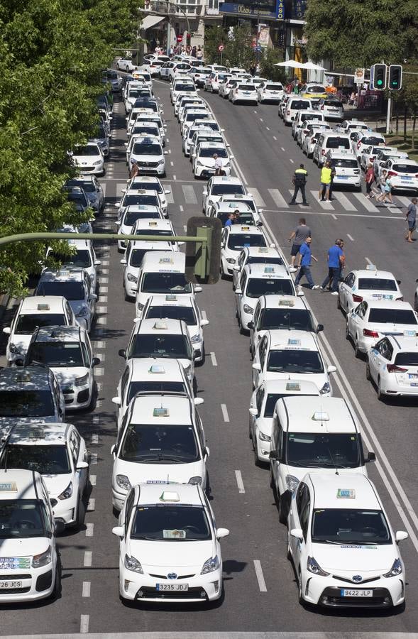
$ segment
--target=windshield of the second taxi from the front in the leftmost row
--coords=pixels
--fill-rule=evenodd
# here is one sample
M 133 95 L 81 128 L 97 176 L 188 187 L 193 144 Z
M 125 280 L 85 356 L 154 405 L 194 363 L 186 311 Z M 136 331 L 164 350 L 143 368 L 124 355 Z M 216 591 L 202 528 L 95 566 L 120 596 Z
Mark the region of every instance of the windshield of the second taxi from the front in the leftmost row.
M 1 467 L 28 469 L 46 475 L 65 475 L 71 472 L 65 444 L 8 444 L 1 457 Z

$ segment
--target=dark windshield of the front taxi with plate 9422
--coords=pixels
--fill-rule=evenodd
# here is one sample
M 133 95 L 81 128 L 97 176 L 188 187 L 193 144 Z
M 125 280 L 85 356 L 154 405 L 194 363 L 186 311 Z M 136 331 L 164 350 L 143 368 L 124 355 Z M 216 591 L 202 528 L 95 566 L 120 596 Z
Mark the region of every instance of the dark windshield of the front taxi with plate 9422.
M 392 543 L 382 510 L 317 508 L 312 515 L 312 542 L 342 545 L 383 545 Z

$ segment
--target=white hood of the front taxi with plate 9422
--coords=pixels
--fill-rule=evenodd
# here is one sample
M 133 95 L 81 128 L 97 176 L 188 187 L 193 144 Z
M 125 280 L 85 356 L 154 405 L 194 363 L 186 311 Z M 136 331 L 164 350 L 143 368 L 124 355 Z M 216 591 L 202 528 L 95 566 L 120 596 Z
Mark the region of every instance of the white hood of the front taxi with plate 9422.
M 392 545 L 351 546 L 312 543 L 312 555 L 326 572 L 341 575 L 341 577 L 348 576 L 348 579 L 358 574 L 366 579 L 376 573 L 388 572 L 395 559 L 399 557 L 399 552 L 395 555 Z

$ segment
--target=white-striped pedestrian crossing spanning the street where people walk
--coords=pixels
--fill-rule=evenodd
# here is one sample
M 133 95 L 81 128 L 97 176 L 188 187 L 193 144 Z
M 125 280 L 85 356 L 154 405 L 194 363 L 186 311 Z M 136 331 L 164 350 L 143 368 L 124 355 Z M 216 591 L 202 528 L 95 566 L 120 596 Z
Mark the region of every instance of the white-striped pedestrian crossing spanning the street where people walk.
M 116 180 L 115 180 L 116 181 Z M 179 211 L 183 208 L 200 209 L 202 202 L 202 192 L 205 187 L 204 182 L 188 182 L 182 180 L 162 180 L 164 188 L 168 189 L 167 203 L 174 212 L 177 207 Z M 106 186 L 105 183 L 103 184 Z M 126 181 L 119 180 L 116 182 L 116 200 L 121 200 L 123 192 L 126 189 Z M 290 205 L 293 190 L 280 190 L 277 188 L 267 188 L 263 191 L 255 187 L 247 187 L 247 190 L 254 197 L 255 204 L 259 209 L 263 209 L 267 213 L 290 212 L 295 207 Z M 107 185 L 107 195 L 110 188 Z M 309 205 L 302 207 L 302 197 L 299 193 L 297 196 L 297 208 L 303 209 L 307 213 L 330 214 L 353 214 L 358 216 L 361 214 L 370 215 L 371 217 L 402 217 L 405 216 L 405 207 L 409 205 L 411 199 L 404 195 L 394 195 L 392 204 L 377 202 L 375 199 L 368 200 L 363 193 L 351 191 L 336 191 L 332 193 L 332 202 L 319 202 L 317 190 L 307 190 L 307 200 Z M 181 207 L 181 208 L 180 208 Z

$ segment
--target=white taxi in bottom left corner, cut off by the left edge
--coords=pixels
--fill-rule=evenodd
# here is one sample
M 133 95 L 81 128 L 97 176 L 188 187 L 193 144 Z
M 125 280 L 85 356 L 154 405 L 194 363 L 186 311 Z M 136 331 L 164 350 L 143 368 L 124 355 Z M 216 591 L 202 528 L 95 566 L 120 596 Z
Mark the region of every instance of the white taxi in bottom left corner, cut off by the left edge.
M 45 482 L 31 470 L 0 470 L 0 603 L 35 601 L 61 592 L 61 562 Z

